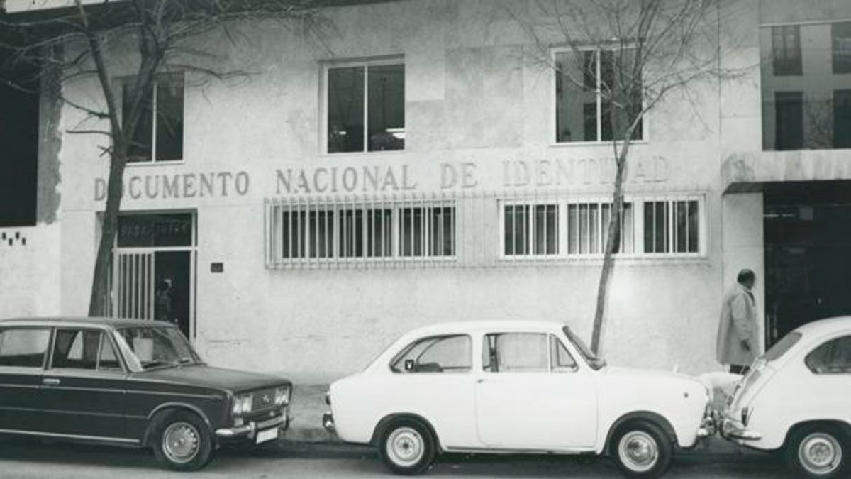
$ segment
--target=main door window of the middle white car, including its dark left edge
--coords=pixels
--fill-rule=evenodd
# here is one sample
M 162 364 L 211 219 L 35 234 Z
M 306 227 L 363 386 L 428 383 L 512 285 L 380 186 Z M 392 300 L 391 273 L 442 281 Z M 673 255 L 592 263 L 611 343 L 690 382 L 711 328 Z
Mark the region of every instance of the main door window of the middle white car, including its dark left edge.
M 549 372 L 550 339 L 540 332 L 485 335 L 483 370 L 488 372 Z

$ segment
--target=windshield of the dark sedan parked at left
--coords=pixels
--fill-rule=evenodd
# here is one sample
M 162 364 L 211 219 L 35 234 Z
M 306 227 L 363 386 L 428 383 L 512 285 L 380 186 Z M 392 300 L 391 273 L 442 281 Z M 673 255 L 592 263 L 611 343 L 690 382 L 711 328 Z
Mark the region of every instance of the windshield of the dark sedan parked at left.
M 118 342 L 127 356 L 130 369 L 134 371 L 201 362 L 176 327 L 121 328 L 118 330 Z

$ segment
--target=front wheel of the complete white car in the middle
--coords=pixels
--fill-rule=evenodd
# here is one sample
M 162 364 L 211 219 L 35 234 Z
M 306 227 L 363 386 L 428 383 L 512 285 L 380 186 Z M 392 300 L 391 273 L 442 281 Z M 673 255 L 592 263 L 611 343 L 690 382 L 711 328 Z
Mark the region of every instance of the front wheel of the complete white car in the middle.
M 671 467 L 673 440 L 650 421 L 633 420 L 614 433 L 609 452 L 627 477 L 659 477 Z

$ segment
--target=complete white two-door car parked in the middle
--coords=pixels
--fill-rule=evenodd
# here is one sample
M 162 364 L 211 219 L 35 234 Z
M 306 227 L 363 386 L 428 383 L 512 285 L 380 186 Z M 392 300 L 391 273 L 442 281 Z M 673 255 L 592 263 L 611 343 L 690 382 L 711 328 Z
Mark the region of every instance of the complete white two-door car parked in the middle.
M 557 323 L 459 322 L 409 332 L 331 384 L 323 424 L 400 474 L 445 451 L 609 453 L 628 476 L 656 477 L 675 447 L 711 435 L 710 394 L 688 376 L 606 366 Z

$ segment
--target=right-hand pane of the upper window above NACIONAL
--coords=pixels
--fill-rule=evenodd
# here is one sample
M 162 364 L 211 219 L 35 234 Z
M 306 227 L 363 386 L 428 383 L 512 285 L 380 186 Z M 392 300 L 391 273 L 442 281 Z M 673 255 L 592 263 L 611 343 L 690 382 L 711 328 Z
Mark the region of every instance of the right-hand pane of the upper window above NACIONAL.
M 367 67 L 369 151 L 405 147 L 405 66 Z

